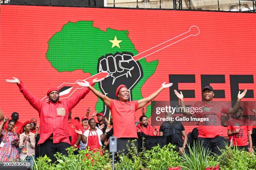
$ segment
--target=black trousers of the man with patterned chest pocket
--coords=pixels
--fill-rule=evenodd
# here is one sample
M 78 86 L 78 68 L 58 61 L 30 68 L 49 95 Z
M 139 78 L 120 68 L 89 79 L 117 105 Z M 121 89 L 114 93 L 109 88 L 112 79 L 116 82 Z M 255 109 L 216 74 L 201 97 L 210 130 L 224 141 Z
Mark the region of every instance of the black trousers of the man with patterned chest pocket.
M 51 163 L 56 162 L 54 154 L 57 152 L 62 153 L 63 155 L 68 155 L 67 148 L 71 145 L 65 142 L 53 143 L 53 140 L 46 140 L 44 143 L 40 144 L 40 153 L 41 156 L 47 155 L 51 159 Z

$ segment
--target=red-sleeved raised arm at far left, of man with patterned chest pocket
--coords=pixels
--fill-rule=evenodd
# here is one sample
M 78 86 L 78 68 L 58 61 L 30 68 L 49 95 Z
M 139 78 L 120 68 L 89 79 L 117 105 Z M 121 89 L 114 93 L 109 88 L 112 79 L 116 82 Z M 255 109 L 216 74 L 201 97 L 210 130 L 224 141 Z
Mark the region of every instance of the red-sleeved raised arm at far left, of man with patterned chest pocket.
M 6 82 L 10 82 L 10 83 L 16 83 L 20 89 L 20 92 L 23 94 L 23 96 L 26 98 L 26 100 L 28 100 L 29 104 L 31 106 L 33 106 L 38 112 L 41 110 L 41 106 L 42 106 L 42 101 L 33 96 L 23 85 L 23 82 L 20 82 L 20 80 L 18 78 L 13 77 L 13 80 L 10 79 L 6 79 Z

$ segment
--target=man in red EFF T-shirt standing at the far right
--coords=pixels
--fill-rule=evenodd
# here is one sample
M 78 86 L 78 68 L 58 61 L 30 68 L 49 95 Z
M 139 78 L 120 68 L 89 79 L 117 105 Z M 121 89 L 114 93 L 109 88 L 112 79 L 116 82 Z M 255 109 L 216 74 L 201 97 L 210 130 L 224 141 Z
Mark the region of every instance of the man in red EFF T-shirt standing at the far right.
M 232 143 L 239 149 L 253 151 L 253 144 L 251 140 L 252 126 L 244 126 L 243 108 L 240 107 L 234 119 L 229 122 L 228 136 L 232 136 Z M 248 147 L 249 142 L 249 147 Z

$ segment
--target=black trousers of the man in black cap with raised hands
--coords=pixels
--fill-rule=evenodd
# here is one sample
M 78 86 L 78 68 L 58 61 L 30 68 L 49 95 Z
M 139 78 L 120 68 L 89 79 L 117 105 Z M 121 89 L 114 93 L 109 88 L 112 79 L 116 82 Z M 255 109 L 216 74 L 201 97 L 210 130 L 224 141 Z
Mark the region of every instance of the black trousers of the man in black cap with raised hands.
M 221 149 L 225 148 L 225 140 L 222 136 L 216 136 L 215 138 L 197 138 L 199 143 L 205 148 L 206 151 L 221 155 Z

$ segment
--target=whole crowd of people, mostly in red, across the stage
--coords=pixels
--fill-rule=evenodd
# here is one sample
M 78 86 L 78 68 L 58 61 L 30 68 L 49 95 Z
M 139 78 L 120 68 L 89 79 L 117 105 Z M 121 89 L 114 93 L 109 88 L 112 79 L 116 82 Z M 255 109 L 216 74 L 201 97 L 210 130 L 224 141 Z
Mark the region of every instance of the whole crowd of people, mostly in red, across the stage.
M 79 150 L 87 148 L 93 152 L 99 151 L 102 154 L 103 147 L 108 149 L 110 136 L 117 138 L 117 148 L 120 154 L 127 154 L 128 147 L 131 147 L 131 141 L 136 141 L 138 137 L 170 135 L 174 138 L 173 144 L 177 145 L 177 151 L 180 154 L 184 152 L 187 147 L 188 135 L 181 122 L 175 120 L 165 121 L 158 131 L 157 128 L 149 124 L 144 109 L 142 109 L 139 122 L 135 122 L 135 111 L 143 108 L 159 95 L 162 90 L 172 86 L 172 83 L 166 84 L 164 82 L 158 90 L 148 97 L 130 101 L 129 90 L 125 85 L 120 85 L 116 89 L 116 97 L 119 100 L 111 99 L 96 90 L 93 85 L 101 80 L 103 79 L 94 79 L 91 83 L 78 82 L 84 89 L 64 101 L 59 100 L 59 90 L 57 88 L 49 89 L 47 92 L 49 100 L 43 101 L 34 97 L 18 78 L 13 77 L 13 80 L 6 80 L 6 82 L 16 83 L 26 100 L 38 111 L 40 126 L 35 118 L 24 123 L 18 121 L 19 114 L 17 112 L 13 112 L 11 120 L 8 117 L 3 117 L 3 121 L 0 122 L 0 161 L 26 160 L 33 166 L 36 136 L 38 134 L 40 134 L 40 139 L 37 143 L 40 146 L 40 154 L 42 156 L 47 155 L 52 163 L 56 161 L 54 157 L 56 152 L 67 155 L 67 148 L 71 146 Z M 79 117 L 72 118 L 72 108 L 90 91 L 109 107 L 112 114 L 111 120 L 108 120 L 103 113 L 98 113 L 97 111 L 92 114 L 92 117 L 89 117 L 90 107 L 81 120 Z M 182 92 L 179 93 L 176 90 L 174 92 L 180 100 L 180 107 L 186 108 Z M 228 107 L 222 103 L 216 105 L 213 104 L 213 88 L 206 86 L 203 89 L 204 101 L 197 102 L 192 107 L 200 107 L 203 103 L 204 106 L 214 108 L 207 114 L 218 115 L 218 113 L 223 112 L 234 115 L 234 120 L 242 121 L 243 108 L 240 106 L 240 101 L 245 95 L 246 90 L 238 93 L 238 99 L 234 107 Z M 252 111 L 256 117 L 256 110 L 252 109 Z M 183 112 L 183 114 L 192 115 L 190 112 Z M 0 114 L 0 116 L 2 115 Z M 95 119 L 95 116 L 97 119 Z M 165 116 L 173 117 L 174 114 L 166 112 Z M 233 124 L 226 126 L 228 127 L 227 134 L 230 136 L 231 145 L 253 152 L 252 126 L 234 126 Z M 221 127 L 198 125 L 197 131 L 198 135 L 194 136 L 202 143 L 202 146 L 211 151 L 211 153 L 220 155 L 221 149 L 225 148 L 224 134 Z M 135 142 L 135 145 L 138 146 L 138 143 Z

